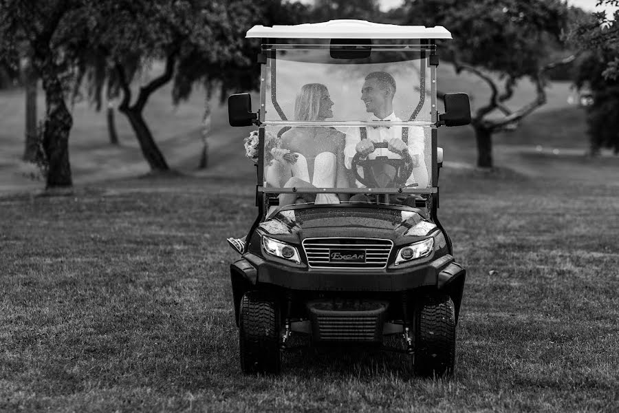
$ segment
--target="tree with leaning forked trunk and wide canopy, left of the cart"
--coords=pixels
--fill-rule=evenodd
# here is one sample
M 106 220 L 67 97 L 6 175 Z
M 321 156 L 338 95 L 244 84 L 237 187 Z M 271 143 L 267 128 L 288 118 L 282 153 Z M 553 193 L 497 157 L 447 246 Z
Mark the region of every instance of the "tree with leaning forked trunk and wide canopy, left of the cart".
M 255 89 L 257 67 L 255 42 L 246 42 L 246 30 L 254 23 L 268 24 L 270 16 L 303 9 L 281 0 L 113 0 L 97 6 L 96 35 L 90 49 L 105 56 L 85 59 L 85 72 L 103 74 L 86 77 L 89 89 L 100 98 L 105 84 L 122 91 L 119 110 L 129 119 L 144 158 L 153 171 L 166 171 L 167 162 L 146 125 L 142 112 L 157 89 L 173 82 L 173 103 L 188 98 L 193 85 L 202 84 L 207 91 L 219 87 L 222 97 L 228 90 Z M 164 72 L 142 85 L 133 98 L 131 78 L 135 70 L 146 71 L 155 61 L 164 62 Z M 113 67 L 113 72 L 101 67 Z M 207 98 L 208 100 L 208 98 Z M 205 129 L 208 126 L 205 108 Z M 208 134 L 208 131 L 205 131 Z M 206 163 L 206 138 L 204 162 Z

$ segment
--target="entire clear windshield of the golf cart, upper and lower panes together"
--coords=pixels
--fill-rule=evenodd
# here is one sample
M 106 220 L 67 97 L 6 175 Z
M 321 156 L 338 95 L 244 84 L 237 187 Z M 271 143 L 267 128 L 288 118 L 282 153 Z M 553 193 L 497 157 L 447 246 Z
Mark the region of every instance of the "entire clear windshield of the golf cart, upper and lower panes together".
M 336 59 L 329 47 L 285 47 L 268 50 L 263 69 L 265 191 L 323 191 L 316 202 L 330 203 L 335 193 L 432 187 L 428 51 L 372 46 Z

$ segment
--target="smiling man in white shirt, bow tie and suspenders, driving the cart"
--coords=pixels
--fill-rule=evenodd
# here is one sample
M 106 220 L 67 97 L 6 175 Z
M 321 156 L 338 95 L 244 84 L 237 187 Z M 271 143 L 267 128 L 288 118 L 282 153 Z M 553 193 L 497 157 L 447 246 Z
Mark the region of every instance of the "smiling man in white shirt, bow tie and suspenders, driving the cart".
M 366 112 L 372 114 L 369 120 L 401 121 L 393 113 L 395 90 L 395 79 L 387 72 L 371 72 L 365 76 L 365 82 L 361 88 L 361 100 L 365 104 Z M 344 149 L 346 168 L 351 169 L 351 160 L 356 153 L 360 153 L 362 159 L 374 159 L 376 156 L 399 159 L 398 153 L 408 150 L 413 160 L 413 171 L 406 179 L 406 185 L 417 183 L 419 188 L 427 187 L 428 170 L 424 160 L 424 131 L 422 127 L 407 127 L 406 129 L 402 134 L 401 126 L 351 128 L 351 131 L 347 133 Z M 375 149 L 374 142 L 387 142 L 389 147 Z M 364 187 L 359 181 L 356 181 L 356 186 Z M 351 197 L 351 201 L 365 200 L 369 200 L 367 195 Z

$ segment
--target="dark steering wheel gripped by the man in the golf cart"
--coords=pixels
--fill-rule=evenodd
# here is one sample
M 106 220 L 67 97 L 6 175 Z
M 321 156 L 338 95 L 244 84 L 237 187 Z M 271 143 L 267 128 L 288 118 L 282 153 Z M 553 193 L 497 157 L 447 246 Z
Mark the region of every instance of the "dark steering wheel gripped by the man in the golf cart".
M 374 149 L 387 149 L 387 142 L 373 142 Z M 395 153 L 395 152 L 394 152 Z M 355 153 L 351 161 L 351 169 L 355 178 L 368 188 L 404 187 L 406 180 L 413 172 L 413 159 L 408 149 L 398 153 L 401 159 L 391 159 L 387 156 L 377 156 L 374 159 L 360 160 L 361 154 Z M 357 167 L 363 168 L 363 176 L 359 175 Z M 409 187 L 417 187 L 417 183 Z

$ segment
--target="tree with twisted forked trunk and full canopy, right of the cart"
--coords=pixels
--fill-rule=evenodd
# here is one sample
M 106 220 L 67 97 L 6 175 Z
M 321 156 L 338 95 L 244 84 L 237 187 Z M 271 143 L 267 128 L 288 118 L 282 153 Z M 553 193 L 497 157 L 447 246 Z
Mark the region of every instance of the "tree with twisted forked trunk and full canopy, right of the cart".
M 447 42 L 441 57 L 453 63 L 457 73 L 475 74 L 490 88 L 488 102 L 472 114 L 471 125 L 477 165 L 492 167 L 492 134 L 516 125 L 543 105 L 545 70 L 574 60 L 568 56 L 549 63 L 546 58 L 561 42 L 567 6 L 560 0 L 409 0 L 405 12 L 410 24 L 448 28 L 453 41 Z M 502 91 L 492 74 L 503 81 Z M 536 94 L 530 103 L 512 110 L 507 103 L 522 78 L 532 81 Z

